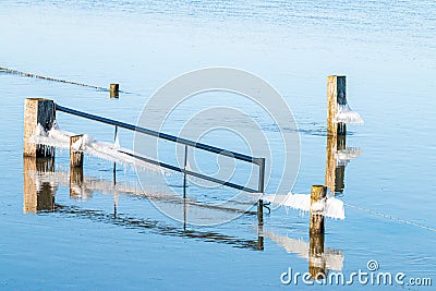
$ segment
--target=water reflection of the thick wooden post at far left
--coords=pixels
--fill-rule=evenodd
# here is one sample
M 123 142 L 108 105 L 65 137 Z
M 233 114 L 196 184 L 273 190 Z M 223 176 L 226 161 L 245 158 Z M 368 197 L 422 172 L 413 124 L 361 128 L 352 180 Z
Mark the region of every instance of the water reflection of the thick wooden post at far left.
M 55 210 L 56 185 L 35 179 L 38 173 L 55 171 L 55 158 L 23 157 L 23 211 L 36 214 Z

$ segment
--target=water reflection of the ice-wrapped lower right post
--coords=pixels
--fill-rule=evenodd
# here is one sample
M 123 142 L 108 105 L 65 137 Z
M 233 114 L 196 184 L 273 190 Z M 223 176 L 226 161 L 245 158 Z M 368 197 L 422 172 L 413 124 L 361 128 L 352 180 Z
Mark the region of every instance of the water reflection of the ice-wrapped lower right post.
M 326 259 L 324 256 L 324 233 L 311 233 L 308 242 L 308 272 L 311 278 L 326 278 Z

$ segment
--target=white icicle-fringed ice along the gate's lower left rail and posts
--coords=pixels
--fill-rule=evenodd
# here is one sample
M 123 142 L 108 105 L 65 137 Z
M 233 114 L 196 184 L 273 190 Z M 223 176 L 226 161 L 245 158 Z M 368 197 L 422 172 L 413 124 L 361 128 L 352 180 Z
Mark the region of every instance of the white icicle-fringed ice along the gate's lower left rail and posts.
M 31 142 L 37 145 L 46 145 L 56 148 L 70 149 L 70 137 L 76 135 L 72 132 L 62 131 L 55 121 L 53 126 L 47 132 L 40 124 L 35 131 L 35 135 L 29 138 Z M 129 148 L 122 148 L 118 135 L 114 143 L 98 142 L 89 134 L 84 134 L 81 138 L 72 144 L 72 148 L 77 151 L 83 151 L 86 155 L 97 157 L 113 162 L 119 162 L 124 166 L 137 166 L 143 170 L 152 170 L 170 175 L 161 167 L 152 165 L 146 161 L 138 160 L 128 154 L 135 155 Z M 124 151 L 124 153 L 121 153 Z

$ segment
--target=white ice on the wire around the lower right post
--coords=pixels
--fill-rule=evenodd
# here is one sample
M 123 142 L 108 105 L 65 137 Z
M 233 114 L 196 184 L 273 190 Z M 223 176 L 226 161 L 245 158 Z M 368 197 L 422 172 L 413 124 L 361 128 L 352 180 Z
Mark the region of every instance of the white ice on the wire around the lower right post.
M 311 210 L 311 194 L 292 194 L 291 192 L 288 195 L 266 194 L 261 199 L 306 213 Z M 328 196 L 323 201 L 314 203 L 312 210 L 320 213 L 326 217 L 346 219 L 343 202 L 334 196 Z

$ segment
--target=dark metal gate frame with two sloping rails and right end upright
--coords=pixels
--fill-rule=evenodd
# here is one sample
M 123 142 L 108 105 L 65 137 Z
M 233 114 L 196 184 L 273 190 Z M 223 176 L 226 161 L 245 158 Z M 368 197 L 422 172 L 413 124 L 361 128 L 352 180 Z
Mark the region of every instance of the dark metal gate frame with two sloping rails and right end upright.
M 242 185 L 239 185 L 239 184 L 234 184 L 234 183 L 231 183 L 231 182 L 227 182 L 227 181 L 223 181 L 223 180 L 219 180 L 219 179 L 216 179 L 216 178 L 213 178 L 213 177 L 209 177 L 209 175 L 205 175 L 205 174 L 202 174 L 202 173 L 193 172 L 193 171 L 190 171 L 190 170 L 186 170 L 186 169 L 182 169 L 182 168 L 169 165 L 169 163 L 165 163 L 165 162 L 160 162 L 160 161 L 157 161 L 157 160 L 153 160 L 153 159 L 149 159 L 149 158 L 146 158 L 146 157 L 143 157 L 143 156 L 137 156 L 137 155 L 134 155 L 134 154 L 131 154 L 131 153 L 121 151 L 121 153 L 123 153 L 125 155 L 129 155 L 131 157 L 137 158 L 140 160 L 143 160 L 143 161 L 146 161 L 146 162 L 149 162 L 149 163 L 153 163 L 153 165 L 157 165 L 157 166 L 160 166 L 160 167 L 173 170 L 173 171 L 178 171 L 178 172 L 181 172 L 183 174 L 197 177 L 197 178 L 210 181 L 210 182 L 215 182 L 215 183 L 222 184 L 222 185 L 226 185 L 226 186 L 230 186 L 230 187 L 233 187 L 233 189 L 246 191 L 246 192 L 250 192 L 250 193 L 264 193 L 265 158 L 255 158 L 255 157 L 246 156 L 246 155 L 239 154 L 239 153 L 235 153 L 235 151 L 222 149 L 222 148 L 215 147 L 215 146 L 209 146 L 209 145 L 206 145 L 206 144 L 197 143 L 197 142 L 190 141 L 190 140 L 182 138 L 182 137 L 178 137 L 178 136 L 174 136 L 174 135 L 170 135 L 170 134 L 166 134 L 166 133 L 148 130 L 148 129 L 145 129 L 145 128 L 136 126 L 136 125 L 129 124 L 129 123 L 125 123 L 125 122 L 121 122 L 121 121 L 117 121 L 117 120 L 112 120 L 112 119 L 108 119 L 108 118 L 102 118 L 102 117 L 89 114 L 89 113 L 82 112 L 82 111 L 78 111 L 78 110 L 75 110 L 75 109 L 71 109 L 71 108 L 68 108 L 68 107 L 60 106 L 58 104 L 56 104 L 56 110 L 57 111 L 62 111 L 62 112 L 65 112 L 65 113 L 70 113 L 70 114 L 73 114 L 73 116 L 82 117 L 82 118 L 85 118 L 85 119 L 95 120 L 95 121 L 102 122 L 102 123 L 106 123 L 106 124 L 114 125 L 114 126 L 118 126 L 118 128 L 122 128 L 122 129 L 126 129 L 126 130 L 131 130 L 131 131 L 136 131 L 138 133 L 143 133 L 143 134 L 155 136 L 155 137 L 162 138 L 162 140 L 166 140 L 166 141 L 170 141 L 170 142 L 183 144 L 183 145 L 186 145 L 186 146 L 199 148 L 199 149 L 203 149 L 203 150 L 206 150 L 206 151 L 210 151 L 210 153 L 215 153 L 215 154 L 218 154 L 218 155 L 222 155 L 222 156 L 227 156 L 227 157 L 235 158 L 235 159 L 239 159 L 239 160 L 243 160 L 243 161 L 255 163 L 255 165 L 259 166 L 259 181 L 258 181 L 258 189 L 257 190 L 254 190 L 254 189 L 251 189 L 251 187 L 245 187 L 245 186 L 242 186 Z

